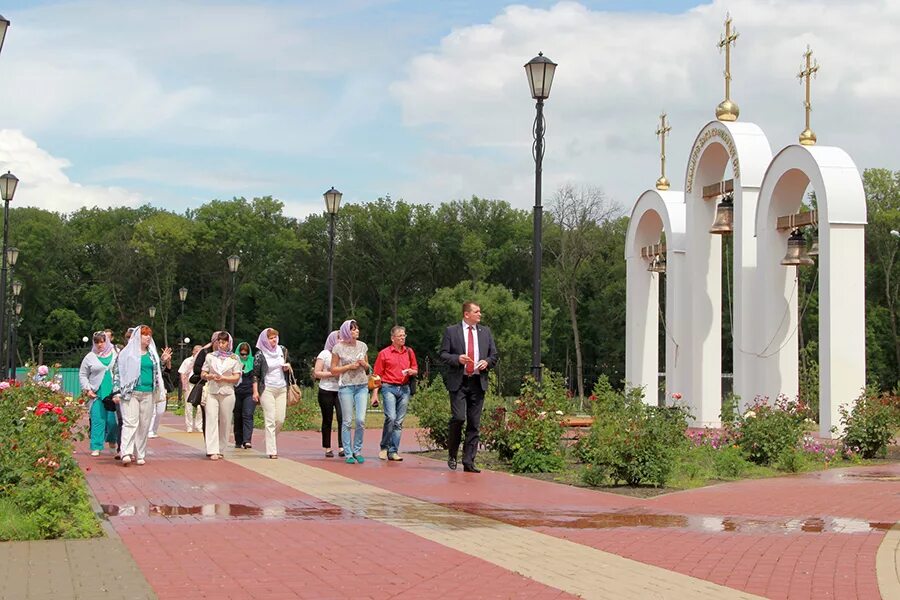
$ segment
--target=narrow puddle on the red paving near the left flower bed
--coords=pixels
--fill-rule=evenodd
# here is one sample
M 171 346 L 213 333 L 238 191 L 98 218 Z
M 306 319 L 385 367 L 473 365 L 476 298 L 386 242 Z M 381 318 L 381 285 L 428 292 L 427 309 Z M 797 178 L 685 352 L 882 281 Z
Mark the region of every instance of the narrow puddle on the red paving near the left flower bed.
M 246 504 L 101 504 L 109 517 L 202 517 L 225 519 L 303 519 L 338 520 L 355 518 L 336 506 L 249 506 Z

